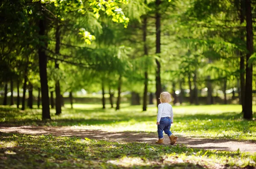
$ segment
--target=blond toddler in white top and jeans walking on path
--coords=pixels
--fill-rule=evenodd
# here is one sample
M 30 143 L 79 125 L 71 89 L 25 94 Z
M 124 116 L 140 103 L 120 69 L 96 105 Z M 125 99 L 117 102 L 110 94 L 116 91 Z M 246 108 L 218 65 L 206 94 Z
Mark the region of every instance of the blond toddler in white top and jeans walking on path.
M 163 144 L 163 131 L 169 136 L 171 145 L 175 144 L 177 137 L 170 131 L 171 124 L 173 123 L 172 106 L 169 104 L 172 101 L 171 94 L 162 92 L 160 94 L 160 104 L 158 105 L 157 113 L 157 132 L 158 141 L 156 144 Z

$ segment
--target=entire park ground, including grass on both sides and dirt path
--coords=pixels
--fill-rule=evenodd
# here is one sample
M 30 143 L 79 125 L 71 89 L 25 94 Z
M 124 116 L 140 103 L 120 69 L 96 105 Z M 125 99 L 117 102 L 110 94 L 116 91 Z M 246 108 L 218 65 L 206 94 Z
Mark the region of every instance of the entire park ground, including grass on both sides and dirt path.
M 239 105 L 175 106 L 170 145 L 156 145 L 157 108 L 65 105 L 41 121 L 41 110 L 0 107 L 0 168 L 255 168 L 256 114 Z M 256 107 L 253 107 L 256 110 Z

